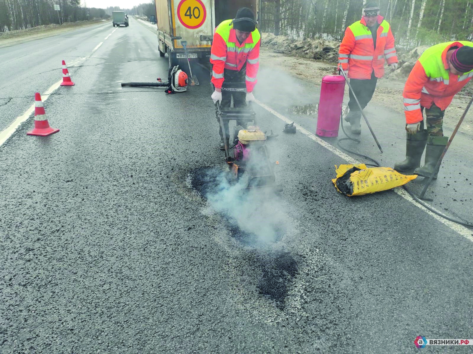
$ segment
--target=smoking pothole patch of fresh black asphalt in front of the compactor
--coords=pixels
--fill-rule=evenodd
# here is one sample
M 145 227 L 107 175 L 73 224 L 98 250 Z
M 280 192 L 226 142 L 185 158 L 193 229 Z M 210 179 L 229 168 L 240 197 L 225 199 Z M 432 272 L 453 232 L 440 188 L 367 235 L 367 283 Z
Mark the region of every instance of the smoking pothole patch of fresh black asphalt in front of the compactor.
M 194 169 L 187 186 L 208 201 L 232 239 L 252 248 L 248 252 L 255 256 L 249 267 L 260 270 L 255 279 L 258 292 L 284 309 L 298 263 L 289 252 L 272 248 L 293 230 L 278 197 L 238 189 L 217 168 Z

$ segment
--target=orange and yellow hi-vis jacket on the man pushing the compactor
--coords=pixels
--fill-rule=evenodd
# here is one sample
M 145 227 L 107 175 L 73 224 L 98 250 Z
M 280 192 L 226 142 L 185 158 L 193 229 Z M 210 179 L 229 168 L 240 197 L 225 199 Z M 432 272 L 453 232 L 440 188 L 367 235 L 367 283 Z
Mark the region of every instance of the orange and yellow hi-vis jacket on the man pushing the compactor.
M 240 71 L 246 62 L 246 91 L 252 92 L 256 85 L 256 74 L 259 68 L 260 39 L 258 29 L 255 29 L 240 44 L 233 29 L 232 20 L 225 20 L 217 26 L 210 49 L 212 67 L 212 83 L 216 88 L 223 84 L 224 69 Z

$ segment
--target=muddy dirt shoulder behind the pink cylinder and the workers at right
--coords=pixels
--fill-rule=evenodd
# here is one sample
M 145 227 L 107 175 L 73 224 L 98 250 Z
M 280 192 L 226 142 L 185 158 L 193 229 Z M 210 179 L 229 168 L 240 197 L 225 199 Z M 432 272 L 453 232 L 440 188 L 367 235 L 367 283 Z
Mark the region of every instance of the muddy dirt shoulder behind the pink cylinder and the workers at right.
M 269 67 L 277 67 L 289 74 L 295 75 L 299 79 L 307 80 L 320 87 L 322 78 L 333 73 L 336 64 L 307 59 L 302 57 L 288 56 L 274 53 L 272 50 L 262 47 L 260 52 L 260 62 Z M 387 69 L 389 70 L 389 69 Z M 393 109 L 400 115 L 404 114 L 403 87 L 405 81 L 393 78 L 382 78 L 378 80 L 375 94 L 371 102 L 378 106 L 386 106 Z M 348 86 L 345 86 L 345 95 L 348 97 Z M 456 95 L 450 106 L 447 108 L 444 125 L 447 129 L 453 130 L 471 97 Z M 368 105 L 369 106 L 369 105 Z M 470 136 L 473 136 L 473 109 L 470 109 L 460 128 Z

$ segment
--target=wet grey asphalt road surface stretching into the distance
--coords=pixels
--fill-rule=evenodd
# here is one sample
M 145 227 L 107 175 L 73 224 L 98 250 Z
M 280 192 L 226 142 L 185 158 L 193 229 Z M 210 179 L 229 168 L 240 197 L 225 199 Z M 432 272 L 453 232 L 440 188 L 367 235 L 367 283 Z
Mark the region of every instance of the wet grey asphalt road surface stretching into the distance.
M 76 85 L 54 89 L 61 60 Z M 262 63 L 254 109 L 279 133 L 267 146 L 284 190 L 245 193 L 221 178 L 208 72 L 182 94 L 120 86 L 167 65 L 133 18 L 0 49 L 0 128 L 52 88 L 60 129 L 27 136 L 29 116 L 0 146 L 1 353 L 413 353 L 418 335 L 473 338 L 473 231 L 400 191 L 338 193 L 341 150 L 281 132 L 284 116 L 315 133 L 291 107 L 318 88 Z M 342 143 L 392 166 L 403 117 L 367 114 L 384 154 L 364 124 Z M 471 166 L 459 133 L 428 192 L 470 222 Z

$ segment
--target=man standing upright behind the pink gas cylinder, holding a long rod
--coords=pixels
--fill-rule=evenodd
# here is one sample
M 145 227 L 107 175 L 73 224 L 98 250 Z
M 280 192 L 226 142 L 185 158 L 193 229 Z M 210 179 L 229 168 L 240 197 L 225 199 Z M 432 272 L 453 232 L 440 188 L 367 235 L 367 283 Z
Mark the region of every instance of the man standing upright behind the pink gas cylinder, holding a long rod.
M 379 6 L 369 2 L 363 10 L 360 21 L 349 26 L 340 44 L 338 67 L 348 75 L 350 85 L 358 98 L 361 108 L 365 108 L 373 97 L 378 78 L 384 75 L 384 64 L 397 69 L 397 54 L 394 36 L 389 23 L 379 16 Z M 345 120 L 350 122 L 351 133 L 361 133 L 361 111 L 350 90 L 348 102 L 350 112 Z

